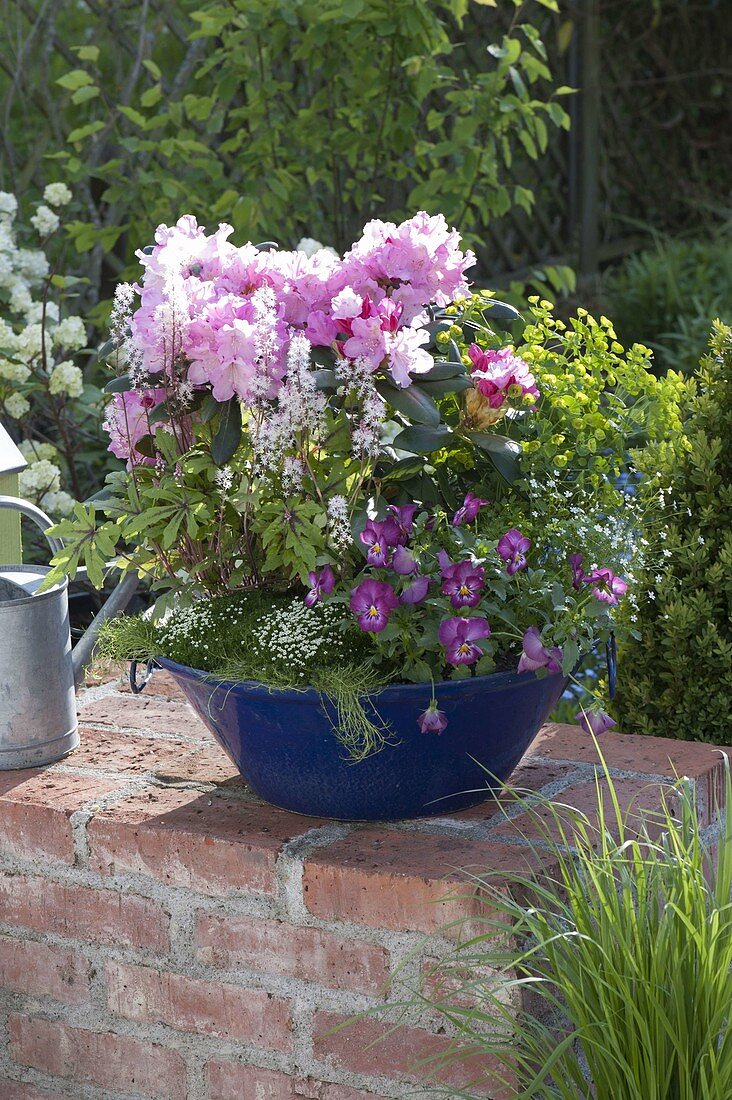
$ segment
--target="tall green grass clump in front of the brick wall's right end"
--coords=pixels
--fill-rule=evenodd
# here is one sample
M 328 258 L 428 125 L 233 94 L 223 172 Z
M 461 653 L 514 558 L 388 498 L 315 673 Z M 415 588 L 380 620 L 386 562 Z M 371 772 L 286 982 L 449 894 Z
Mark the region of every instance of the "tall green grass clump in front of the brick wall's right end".
M 729 806 L 728 760 L 724 788 Z M 439 1079 L 465 1060 L 469 1077 L 488 1058 L 490 1084 L 514 1100 L 728 1100 L 732 820 L 712 860 L 687 783 L 644 822 L 621 810 L 607 772 L 598 796 L 597 824 L 528 807 L 550 876 L 477 879 L 481 933 L 402 1004 L 456 1028 L 424 1068 Z M 485 1084 L 476 1070 L 473 1087 L 433 1094 L 477 1100 Z

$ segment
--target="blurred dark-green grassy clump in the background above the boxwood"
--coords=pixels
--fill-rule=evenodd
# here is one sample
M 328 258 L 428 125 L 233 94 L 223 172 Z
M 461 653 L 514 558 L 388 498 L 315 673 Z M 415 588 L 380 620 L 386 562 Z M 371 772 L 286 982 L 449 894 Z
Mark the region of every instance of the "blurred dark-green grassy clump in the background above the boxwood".
M 621 340 L 647 343 L 662 371 L 691 374 L 732 298 L 732 239 L 659 238 L 605 276 L 604 294 Z

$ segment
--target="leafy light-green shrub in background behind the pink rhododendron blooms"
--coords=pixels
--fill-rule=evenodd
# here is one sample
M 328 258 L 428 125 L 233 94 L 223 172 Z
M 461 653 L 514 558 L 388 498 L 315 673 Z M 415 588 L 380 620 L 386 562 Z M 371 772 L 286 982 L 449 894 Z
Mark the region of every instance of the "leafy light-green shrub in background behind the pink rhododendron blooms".
M 529 12 L 460 62 L 467 0 L 209 0 L 185 29 L 196 63 L 173 79 L 160 48 L 119 100 L 106 51 L 56 79 L 69 179 L 102 188 L 101 220 L 68 232 L 127 262 L 140 234 L 183 210 L 251 240 L 346 248 L 369 218 L 444 212 L 469 241 L 532 191 L 509 169 L 568 128 Z M 546 0 L 534 3 L 536 14 Z M 192 69 L 192 70 L 190 70 Z M 129 179 L 134 173 L 134 188 Z M 135 240 L 122 234 L 135 227 Z M 129 250 L 129 251 L 125 251 Z

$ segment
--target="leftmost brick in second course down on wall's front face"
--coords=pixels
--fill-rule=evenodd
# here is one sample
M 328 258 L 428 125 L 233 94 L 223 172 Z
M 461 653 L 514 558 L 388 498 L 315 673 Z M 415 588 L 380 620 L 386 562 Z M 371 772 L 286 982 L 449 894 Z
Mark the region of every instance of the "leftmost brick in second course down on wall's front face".
M 0 872 L 0 921 L 95 944 L 166 950 L 170 943 L 170 917 L 159 902 L 40 876 Z

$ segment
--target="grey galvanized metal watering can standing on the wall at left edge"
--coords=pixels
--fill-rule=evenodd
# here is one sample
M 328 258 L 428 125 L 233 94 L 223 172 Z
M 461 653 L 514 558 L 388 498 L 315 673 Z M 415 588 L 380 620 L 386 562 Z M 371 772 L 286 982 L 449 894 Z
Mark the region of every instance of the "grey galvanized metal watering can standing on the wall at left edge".
M 46 531 L 52 520 L 28 501 L 0 496 L 0 508 L 23 513 Z M 56 553 L 58 539 L 46 535 Z M 44 565 L 0 565 L 0 770 L 36 768 L 79 744 L 75 686 L 91 659 L 99 627 L 130 601 L 125 576 L 72 651 L 66 578 L 37 592 Z

